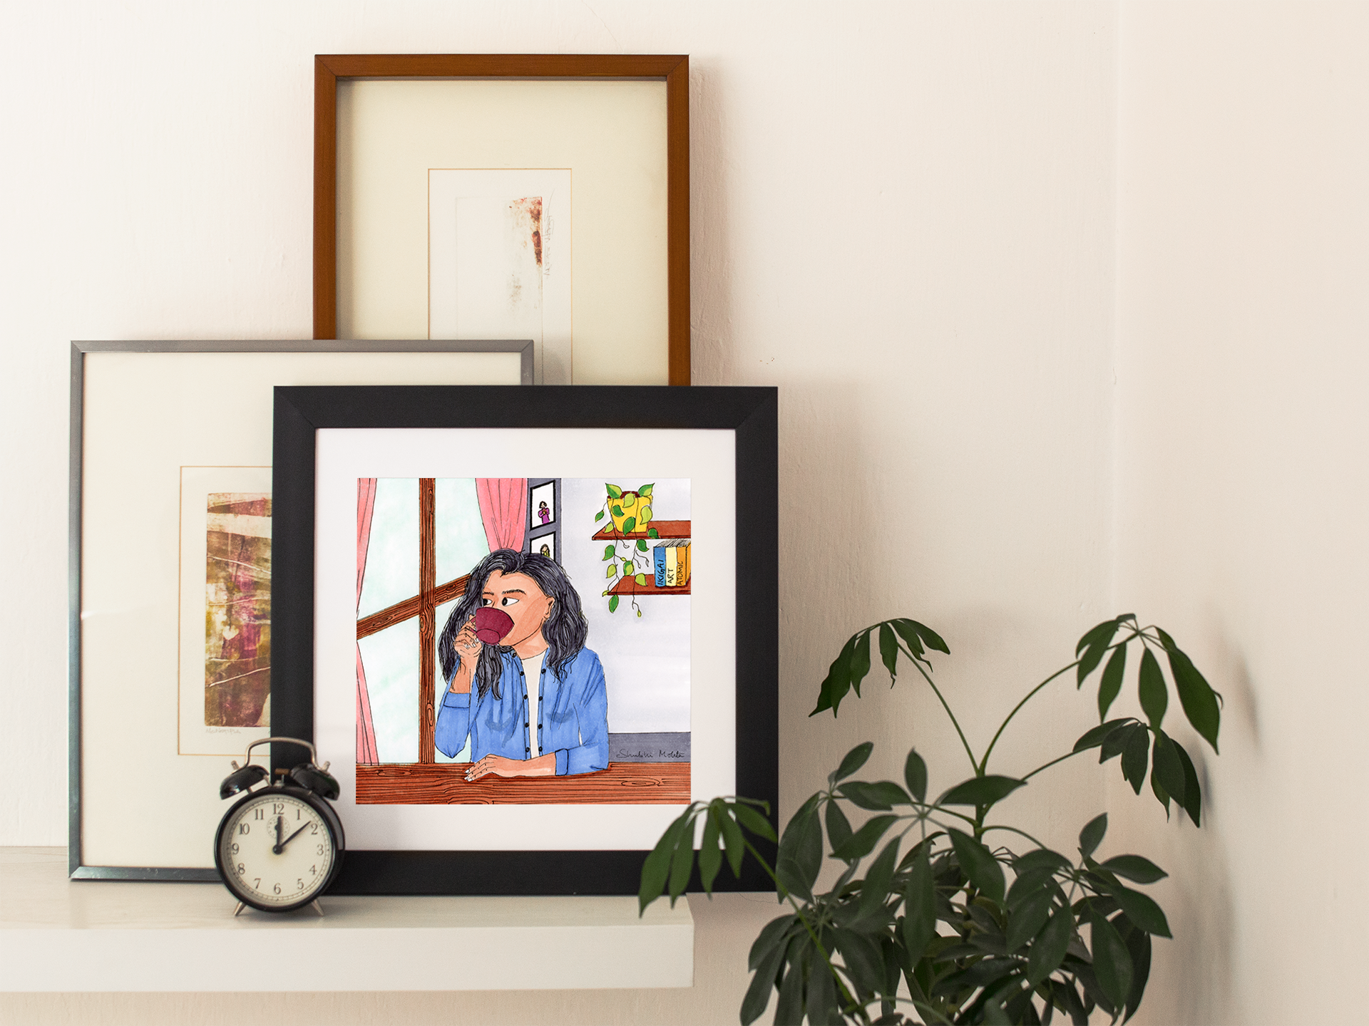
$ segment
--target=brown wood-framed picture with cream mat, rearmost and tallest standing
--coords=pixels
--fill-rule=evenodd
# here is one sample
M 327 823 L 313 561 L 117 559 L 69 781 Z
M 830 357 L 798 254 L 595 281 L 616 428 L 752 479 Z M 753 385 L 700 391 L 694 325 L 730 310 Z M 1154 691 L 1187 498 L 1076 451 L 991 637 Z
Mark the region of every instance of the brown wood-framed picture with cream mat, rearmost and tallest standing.
M 319 55 L 315 338 L 533 338 L 689 384 L 689 59 Z

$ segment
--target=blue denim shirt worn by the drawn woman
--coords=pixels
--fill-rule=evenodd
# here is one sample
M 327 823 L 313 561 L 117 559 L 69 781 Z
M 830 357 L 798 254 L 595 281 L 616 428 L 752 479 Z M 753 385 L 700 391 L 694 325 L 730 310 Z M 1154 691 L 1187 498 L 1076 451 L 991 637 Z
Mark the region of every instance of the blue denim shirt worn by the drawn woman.
M 527 681 L 522 659 L 513 651 L 505 651 L 502 661 L 500 698 L 494 698 L 494 688 L 483 698 L 474 694 L 474 687 L 468 695 L 453 695 L 450 689 L 444 692 L 437 714 L 438 751 L 452 758 L 465 747 L 470 736 L 471 762 L 486 755 L 527 759 L 533 754 L 530 732 L 535 729 L 541 752 L 556 752 L 559 777 L 608 769 L 608 692 L 598 655 L 580 648 L 561 668 L 560 677 L 546 659 L 542 661 L 537 724 L 530 724 L 527 718 Z

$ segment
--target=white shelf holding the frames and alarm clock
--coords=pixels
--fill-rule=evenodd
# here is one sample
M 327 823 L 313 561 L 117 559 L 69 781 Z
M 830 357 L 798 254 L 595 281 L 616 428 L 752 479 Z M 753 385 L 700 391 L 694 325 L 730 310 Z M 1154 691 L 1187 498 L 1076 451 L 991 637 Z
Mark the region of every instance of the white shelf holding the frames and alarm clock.
M 505 990 L 690 986 L 684 900 L 329 897 L 234 918 L 219 884 L 67 880 L 0 848 L 0 990 Z

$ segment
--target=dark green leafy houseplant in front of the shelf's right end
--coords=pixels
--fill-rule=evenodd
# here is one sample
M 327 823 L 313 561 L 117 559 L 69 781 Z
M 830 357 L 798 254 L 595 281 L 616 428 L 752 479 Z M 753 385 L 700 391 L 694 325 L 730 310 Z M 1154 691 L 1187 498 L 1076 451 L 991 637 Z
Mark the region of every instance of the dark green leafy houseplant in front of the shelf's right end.
M 846 642 L 812 714 L 830 709 L 835 715 L 852 689 L 860 696 L 876 646 L 891 685 L 902 654 L 932 688 L 973 774 L 928 798 L 934 792 L 927 765 L 913 750 L 902 781 L 858 781 L 853 777 L 873 748 L 861 744 L 794 813 L 778 839 L 773 865 L 753 841 L 776 840 L 765 803 L 695 802 L 648 856 L 641 908 L 663 893 L 674 903 L 684 892 L 694 869 L 694 825 L 704 818 L 697 856 L 704 889 L 712 892 L 724 858 L 738 873 L 750 856 L 789 906 L 752 947 L 754 975 L 741 1008 L 743 1026 L 765 1010 L 772 989 L 778 1026 L 797 1026 L 805 1018 L 812 1026 L 1045 1026 L 1055 1016 L 1086 1026 L 1095 1008 L 1113 1022 L 1131 1018 L 1144 995 L 1151 937 L 1170 936 L 1164 911 L 1136 885 L 1165 873 L 1140 855 L 1102 858 L 1106 814 L 1090 819 L 1077 854 L 1065 855 L 1016 826 L 991 821 L 990 813 L 1043 770 L 1099 750 L 1099 762 L 1120 759 L 1138 795 L 1149 772 L 1150 789 L 1166 815 L 1173 804 L 1197 826 L 1198 774 L 1162 722 L 1172 685 L 1188 722 L 1216 751 L 1220 696 L 1168 633 L 1124 614 L 1084 633 L 1077 658 L 1028 691 L 976 755 L 932 681 L 928 653 L 949 655 L 946 643 L 912 620 L 887 620 Z M 1108 720 L 1127 676 L 1128 653 L 1138 651 L 1135 680 L 1146 718 Z M 1102 722 L 1068 752 L 1023 777 L 990 773 L 990 757 L 1013 717 L 1069 670 L 1080 688 L 1101 670 Z M 871 815 L 853 828 L 849 808 Z M 819 893 L 824 826 L 841 874 Z

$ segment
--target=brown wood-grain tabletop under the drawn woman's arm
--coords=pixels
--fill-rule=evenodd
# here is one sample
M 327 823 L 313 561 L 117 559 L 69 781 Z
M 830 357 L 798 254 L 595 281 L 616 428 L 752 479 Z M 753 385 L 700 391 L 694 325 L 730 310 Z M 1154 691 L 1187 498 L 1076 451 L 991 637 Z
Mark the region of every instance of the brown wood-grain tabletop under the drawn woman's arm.
M 690 763 L 611 762 L 568 777 L 465 780 L 468 762 L 356 767 L 357 804 L 689 804 Z

